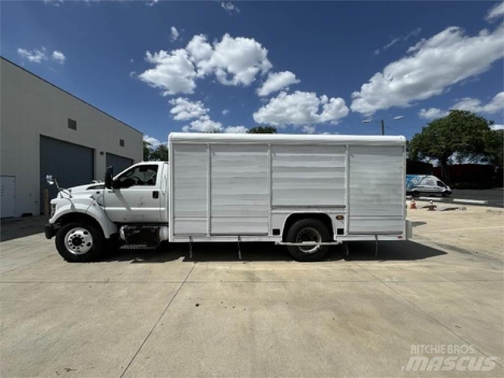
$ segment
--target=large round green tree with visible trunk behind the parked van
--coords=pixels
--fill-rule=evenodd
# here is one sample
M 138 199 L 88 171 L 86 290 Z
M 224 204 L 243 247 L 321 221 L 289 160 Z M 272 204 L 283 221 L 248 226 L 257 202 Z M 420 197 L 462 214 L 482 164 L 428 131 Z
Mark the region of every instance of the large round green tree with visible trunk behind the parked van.
M 446 117 L 429 122 L 411 139 L 409 157 L 412 160 L 437 159 L 443 180 L 449 183 L 448 164 L 455 153 L 469 160 L 487 158 L 489 141 L 495 144 L 490 134 L 492 123 L 471 111 L 452 110 Z

